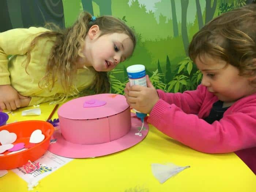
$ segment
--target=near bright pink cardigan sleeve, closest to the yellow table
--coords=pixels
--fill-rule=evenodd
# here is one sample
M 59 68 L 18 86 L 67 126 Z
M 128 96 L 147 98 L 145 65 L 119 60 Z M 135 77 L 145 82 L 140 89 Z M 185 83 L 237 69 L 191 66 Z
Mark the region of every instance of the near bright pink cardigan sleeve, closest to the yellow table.
M 220 121 L 208 124 L 159 99 L 148 118 L 157 129 L 204 153 L 229 153 L 256 146 L 256 106 L 230 110 Z

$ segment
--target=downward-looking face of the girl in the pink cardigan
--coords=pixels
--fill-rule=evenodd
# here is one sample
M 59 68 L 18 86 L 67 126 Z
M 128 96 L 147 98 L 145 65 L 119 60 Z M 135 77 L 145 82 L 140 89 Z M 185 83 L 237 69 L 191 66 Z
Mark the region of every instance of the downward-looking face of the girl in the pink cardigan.
M 255 87 L 249 83 L 249 78 L 239 76 L 238 68 L 223 60 L 211 57 L 197 57 L 197 68 L 202 72 L 202 85 L 223 102 L 234 102 L 255 93 Z

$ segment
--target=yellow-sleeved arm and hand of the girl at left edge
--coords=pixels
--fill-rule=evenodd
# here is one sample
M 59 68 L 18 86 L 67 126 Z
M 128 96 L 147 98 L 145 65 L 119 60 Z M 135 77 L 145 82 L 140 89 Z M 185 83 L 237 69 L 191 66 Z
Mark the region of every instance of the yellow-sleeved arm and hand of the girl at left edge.
M 26 54 L 31 41 L 35 37 L 34 34 L 39 33 L 40 30 L 42 28 L 31 27 L 29 29 L 12 29 L 0 33 L 0 108 L 2 109 L 14 110 L 26 103 L 28 105 L 30 101 L 29 97 L 19 95 L 11 86 L 8 56 Z

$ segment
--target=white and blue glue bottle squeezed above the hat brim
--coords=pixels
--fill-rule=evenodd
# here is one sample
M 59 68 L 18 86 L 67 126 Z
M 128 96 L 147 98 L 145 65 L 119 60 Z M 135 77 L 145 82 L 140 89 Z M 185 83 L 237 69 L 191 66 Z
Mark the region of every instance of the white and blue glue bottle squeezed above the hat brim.
M 128 79 L 130 82 L 130 85 L 140 85 L 147 87 L 147 80 L 146 80 L 146 69 L 144 65 L 131 65 L 127 67 L 127 74 L 128 74 Z M 135 109 L 133 109 L 135 110 Z M 140 133 L 143 129 L 144 125 L 144 117 L 147 116 L 145 113 L 141 113 L 137 110 L 136 111 L 136 116 L 140 118 L 142 121 L 142 127 L 138 133 L 135 133 L 135 135 L 142 136 L 142 133 Z

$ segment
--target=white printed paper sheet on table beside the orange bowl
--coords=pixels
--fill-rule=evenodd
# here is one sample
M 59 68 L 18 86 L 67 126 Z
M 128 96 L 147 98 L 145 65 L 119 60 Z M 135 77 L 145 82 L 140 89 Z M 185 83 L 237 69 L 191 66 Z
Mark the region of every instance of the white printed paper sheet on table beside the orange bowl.
M 16 173 L 28 183 L 31 182 L 31 177 L 33 178 L 33 182 L 37 182 L 72 160 L 73 158 L 61 157 L 51 153 L 50 151 L 46 151 L 41 158 L 33 162 L 35 165 L 40 166 L 39 169 L 32 173 L 26 173 L 24 167 L 18 167 L 16 169 L 12 169 L 12 172 Z

